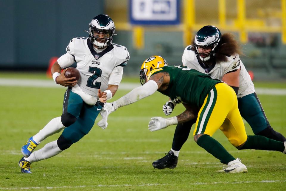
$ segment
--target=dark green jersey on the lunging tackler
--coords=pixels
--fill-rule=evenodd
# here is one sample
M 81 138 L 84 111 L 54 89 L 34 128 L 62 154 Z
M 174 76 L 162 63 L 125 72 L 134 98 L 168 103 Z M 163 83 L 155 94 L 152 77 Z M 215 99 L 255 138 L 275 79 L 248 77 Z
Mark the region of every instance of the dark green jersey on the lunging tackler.
M 165 91 L 158 90 L 159 92 L 169 96 L 171 100 L 178 97 L 183 102 L 195 104 L 199 108 L 203 105 L 211 89 L 221 82 L 186 66 L 164 66 L 153 69 L 148 75 L 148 79 L 159 72 L 168 72 L 170 75 L 168 88 Z

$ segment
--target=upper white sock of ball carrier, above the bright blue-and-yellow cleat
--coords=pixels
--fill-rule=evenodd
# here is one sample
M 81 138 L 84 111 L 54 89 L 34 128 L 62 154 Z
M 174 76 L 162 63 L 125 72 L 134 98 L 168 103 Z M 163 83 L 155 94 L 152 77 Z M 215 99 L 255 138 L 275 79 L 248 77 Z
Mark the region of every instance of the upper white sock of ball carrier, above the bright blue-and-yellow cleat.
M 66 128 L 63 126 L 62 117 L 56 117 L 52 119 L 48 124 L 39 131 L 39 133 L 33 136 L 34 141 L 40 144 L 41 141 L 45 140 L 48 136 L 60 132 L 62 129 Z

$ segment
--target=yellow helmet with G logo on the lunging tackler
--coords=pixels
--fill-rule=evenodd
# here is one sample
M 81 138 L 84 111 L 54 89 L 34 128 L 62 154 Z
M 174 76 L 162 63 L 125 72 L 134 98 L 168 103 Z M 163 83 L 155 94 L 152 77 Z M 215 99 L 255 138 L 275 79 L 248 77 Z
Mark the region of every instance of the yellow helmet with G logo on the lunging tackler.
M 151 56 L 150 58 L 146 59 L 143 62 L 140 71 L 140 83 L 142 84 L 142 86 L 146 83 L 147 76 L 151 72 L 151 70 L 155 68 L 161 68 L 163 66 L 168 66 L 168 63 L 161 56 Z

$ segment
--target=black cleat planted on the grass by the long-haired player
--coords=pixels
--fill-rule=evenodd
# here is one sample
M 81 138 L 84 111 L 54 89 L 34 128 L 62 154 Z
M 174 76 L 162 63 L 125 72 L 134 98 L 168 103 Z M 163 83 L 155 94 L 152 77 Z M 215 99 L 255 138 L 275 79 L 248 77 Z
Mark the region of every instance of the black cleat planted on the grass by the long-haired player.
M 152 163 L 154 168 L 164 169 L 164 168 L 175 168 L 178 163 L 178 157 L 174 155 L 173 151 L 169 151 L 169 153 L 165 153 L 161 159 L 156 160 Z

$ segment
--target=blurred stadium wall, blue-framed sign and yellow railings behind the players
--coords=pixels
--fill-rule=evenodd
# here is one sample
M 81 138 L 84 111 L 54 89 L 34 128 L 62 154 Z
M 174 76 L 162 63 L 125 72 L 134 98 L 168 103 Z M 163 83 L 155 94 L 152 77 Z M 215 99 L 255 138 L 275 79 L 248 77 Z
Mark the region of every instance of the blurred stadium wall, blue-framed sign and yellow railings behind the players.
M 131 55 L 125 75 L 137 76 L 150 55 L 180 64 L 195 32 L 215 25 L 237 36 L 254 80 L 286 79 L 286 0 L 0 0 L 0 7 L 0 71 L 46 71 L 71 38 L 87 36 L 95 15 L 108 14 L 113 42 Z

